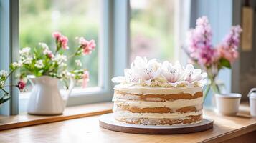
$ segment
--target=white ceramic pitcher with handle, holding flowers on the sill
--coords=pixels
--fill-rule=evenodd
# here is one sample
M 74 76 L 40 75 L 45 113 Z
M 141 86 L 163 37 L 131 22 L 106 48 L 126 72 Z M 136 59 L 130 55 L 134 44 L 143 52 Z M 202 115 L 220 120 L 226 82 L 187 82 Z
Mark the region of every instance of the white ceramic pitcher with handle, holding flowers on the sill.
M 73 80 L 70 80 L 69 90 L 65 92 L 67 94 L 62 96 L 57 86 L 59 79 L 49 76 L 29 76 L 28 79 L 33 88 L 29 97 L 27 113 L 37 115 L 62 114 L 74 87 Z

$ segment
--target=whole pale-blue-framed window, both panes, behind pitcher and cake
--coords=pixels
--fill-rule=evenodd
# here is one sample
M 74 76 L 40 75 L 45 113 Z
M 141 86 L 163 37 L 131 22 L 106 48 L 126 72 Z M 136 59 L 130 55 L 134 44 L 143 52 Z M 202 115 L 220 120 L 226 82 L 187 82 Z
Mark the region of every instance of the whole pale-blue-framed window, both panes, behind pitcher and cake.
M 4 8 L 0 9 L 0 60 L 8 59 L 4 67 L 8 68 L 9 62 L 18 58 L 13 56 L 18 53 L 16 47 L 34 47 L 42 41 L 53 45 L 52 31 L 60 31 L 67 36 L 70 47 L 75 46 L 75 36 L 85 36 L 97 42 L 96 51 L 82 59 L 90 71 L 89 87 L 76 87 L 68 105 L 110 101 L 113 97 L 110 79 L 123 74 L 123 69 L 135 56 L 178 59 L 181 56 L 179 43 L 184 36 L 180 33 L 189 27 L 189 2 L 186 0 L 11 1 L 0 1 L 1 8 Z M 8 15 L 2 16 L 5 14 L 2 11 Z M 19 37 L 16 37 L 18 31 Z M 27 97 L 15 94 L 11 107 L 19 101 L 19 108 L 9 111 L 16 111 L 14 114 L 18 109 L 26 111 Z

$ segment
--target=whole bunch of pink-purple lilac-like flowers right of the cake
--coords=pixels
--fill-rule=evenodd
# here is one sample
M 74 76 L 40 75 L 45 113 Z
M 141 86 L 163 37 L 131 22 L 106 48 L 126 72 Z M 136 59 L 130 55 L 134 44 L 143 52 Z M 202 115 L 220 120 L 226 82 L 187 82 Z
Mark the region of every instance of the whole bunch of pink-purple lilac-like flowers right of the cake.
M 207 71 L 211 83 L 205 93 L 209 92 L 210 87 L 214 92 L 220 92 L 215 79 L 220 69 L 231 68 L 230 63 L 238 58 L 237 49 L 241 32 L 240 26 L 232 26 L 222 43 L 214 48 L 212 46 L 212 29 L 206 16 L 199 17 L 196 20 L 195 29 L 189 31 L 188 47 L 184 51 L 194 64 Z

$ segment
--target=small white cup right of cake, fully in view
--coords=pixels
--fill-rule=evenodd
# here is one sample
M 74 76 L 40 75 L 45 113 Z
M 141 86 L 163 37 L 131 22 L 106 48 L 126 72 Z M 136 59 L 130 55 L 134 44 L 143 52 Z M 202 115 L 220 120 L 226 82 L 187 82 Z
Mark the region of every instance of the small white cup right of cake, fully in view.
M 237 93 L 215 94 L 218 112 L 224 115 L 237 114 L 241 97 L 242 95 Z

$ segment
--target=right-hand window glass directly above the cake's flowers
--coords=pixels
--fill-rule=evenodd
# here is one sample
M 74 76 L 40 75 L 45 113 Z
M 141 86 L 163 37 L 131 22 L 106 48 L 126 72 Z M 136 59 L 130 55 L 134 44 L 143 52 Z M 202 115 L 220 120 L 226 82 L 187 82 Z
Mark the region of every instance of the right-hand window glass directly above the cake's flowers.
M 174 0 L 131 0 L 131 56 L 172 60 Z

